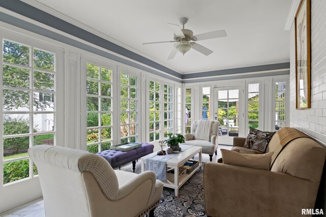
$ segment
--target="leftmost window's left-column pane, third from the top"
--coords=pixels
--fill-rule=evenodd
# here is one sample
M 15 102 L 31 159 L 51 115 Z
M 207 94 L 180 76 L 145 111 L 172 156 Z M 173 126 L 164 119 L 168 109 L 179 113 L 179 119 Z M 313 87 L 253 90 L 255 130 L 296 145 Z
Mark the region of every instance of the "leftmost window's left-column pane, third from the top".
M 29 111 L 30 92 L 21 90 L 4 89 L 4 111 Z

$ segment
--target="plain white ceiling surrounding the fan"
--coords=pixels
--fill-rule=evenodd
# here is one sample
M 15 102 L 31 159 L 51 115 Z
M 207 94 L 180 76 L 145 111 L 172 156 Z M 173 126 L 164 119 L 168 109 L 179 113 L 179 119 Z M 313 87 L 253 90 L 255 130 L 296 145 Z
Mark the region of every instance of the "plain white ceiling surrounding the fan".
M 37 1 L 182 74 L 289 61 L 284 26 L 291 0 Z M 167 23 L 179 24 L 181 17 L 189 19 L 185 28 L 195 35 L 225 29 L 228 36 L 198 42 L 213 51 L 209 56 L 192 49 L 173 60 L 167 60 L 172 43 L 142 45 L 173 40 Z

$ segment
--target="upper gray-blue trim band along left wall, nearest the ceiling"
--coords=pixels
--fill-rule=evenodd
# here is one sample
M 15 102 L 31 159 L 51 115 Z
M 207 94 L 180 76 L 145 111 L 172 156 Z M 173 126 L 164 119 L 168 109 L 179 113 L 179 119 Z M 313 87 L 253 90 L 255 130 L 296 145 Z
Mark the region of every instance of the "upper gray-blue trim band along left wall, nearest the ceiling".
M 79 28 L 69 22 L 66 22 L 56 16 L 50 15 L 40 9 L 37 9 L 37 8 L 35 8 L 29 4 L 23 3 L 19 0 L 9 0 L 9 1 L 8 0 L 0 0 L 0 7 L 3 7 L 5 9 L 13 11 L 17 14 L 28 17 L 30 19 L 36 20 L 40 23 L 43 23 L 50 27 L 61 30 L 62 32 L 65 32 L 67 34 L 75 36 L 79 39 L 85 40 L 87 42 L 90 42 L 92 44 L 95 44 L 97 46 L 105 48 L 107 50 L 111 50 L 115 53 L 118 53 L 118 54 L 128 57 L 130 59 L 133 59 L 135 61 L 138 61 L 139 63 L 145 64 L 149 67 L 152 67 L 152 68 L 157 69 L 162 72 L 166 72 L 170 75 L 173 75 L 173 76 L 176 76 L 176 77 L 182 79 L 182 74 L 180 74 L 176 71 L 173 71 L 165 66 L 162 66 L 162 65 L 156 63 L 153 60 L 150 60 L 150 59 L 148 59 L 144 56 L 141 56 L 137 53 L 134 53 L 134 52 L 132 52 L 126 48 L 123 48 L 117 44 L 114 44 L 110 41 L 107 41 L 95 34 L 92 34 L 82 28 Z M 29 30 L 29 29 L 26 29 L 26 30 Z

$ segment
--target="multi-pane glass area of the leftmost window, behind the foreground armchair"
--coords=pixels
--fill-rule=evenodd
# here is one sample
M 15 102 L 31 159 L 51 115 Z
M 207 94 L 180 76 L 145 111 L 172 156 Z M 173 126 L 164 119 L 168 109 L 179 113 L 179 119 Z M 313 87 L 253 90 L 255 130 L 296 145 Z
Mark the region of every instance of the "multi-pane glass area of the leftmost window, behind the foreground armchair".
M 57 116 L 62 111 L 62 91 L 57 88 L 62 72 L 58 72 L 55 52 L 11 40 L 3 40 L 2 45 L 0 147 L 3 184 L 7 184 L 37 175 L 29 147 L 63 141 L 57 132 L 62 127 Z

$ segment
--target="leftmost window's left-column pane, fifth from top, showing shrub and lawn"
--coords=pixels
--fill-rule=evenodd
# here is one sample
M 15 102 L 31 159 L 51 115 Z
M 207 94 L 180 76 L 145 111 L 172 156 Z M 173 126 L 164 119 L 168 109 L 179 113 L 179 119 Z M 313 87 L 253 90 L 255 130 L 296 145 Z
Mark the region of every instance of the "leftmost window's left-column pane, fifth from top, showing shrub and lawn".
M 30 137 L 14 137 L 4 139 L 4 160 L 28 156 Z

